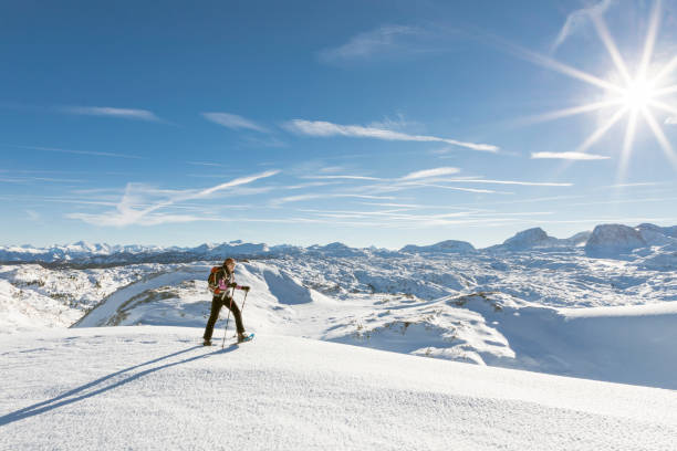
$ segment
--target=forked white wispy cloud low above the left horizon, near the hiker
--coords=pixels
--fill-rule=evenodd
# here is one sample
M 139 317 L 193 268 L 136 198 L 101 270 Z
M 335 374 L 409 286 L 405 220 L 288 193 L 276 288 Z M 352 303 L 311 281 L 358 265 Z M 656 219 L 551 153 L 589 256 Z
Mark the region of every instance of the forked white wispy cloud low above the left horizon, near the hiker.
M 116 204 L 115 210 L 105 211 L 100 214 L 91 213 L 70 213 L 67 218 L 79 219 L 95 226 L 115 226 L 125 227 L 132 224 L 139 226 L 156 226 L 167 222 L 192 222 L 206 219 L 205 217 L 170 214 L 158 212 L 158 210 L 171 207 L 175 203 L 187 200 L 205 199 L 215 193 L 243 185 L 251 183 L 256 180 L 274 176 L 278 170 L 268 170 L 265 172 L 256 174 L 252 176 L 240 177 L 225 183 L 216 185 L 201 190 L 156 190 L 139 183 L 127 183 L 125 193 L 121 201 Z M 150 197 L 160 197 L 160 200 L 150 200 Z

